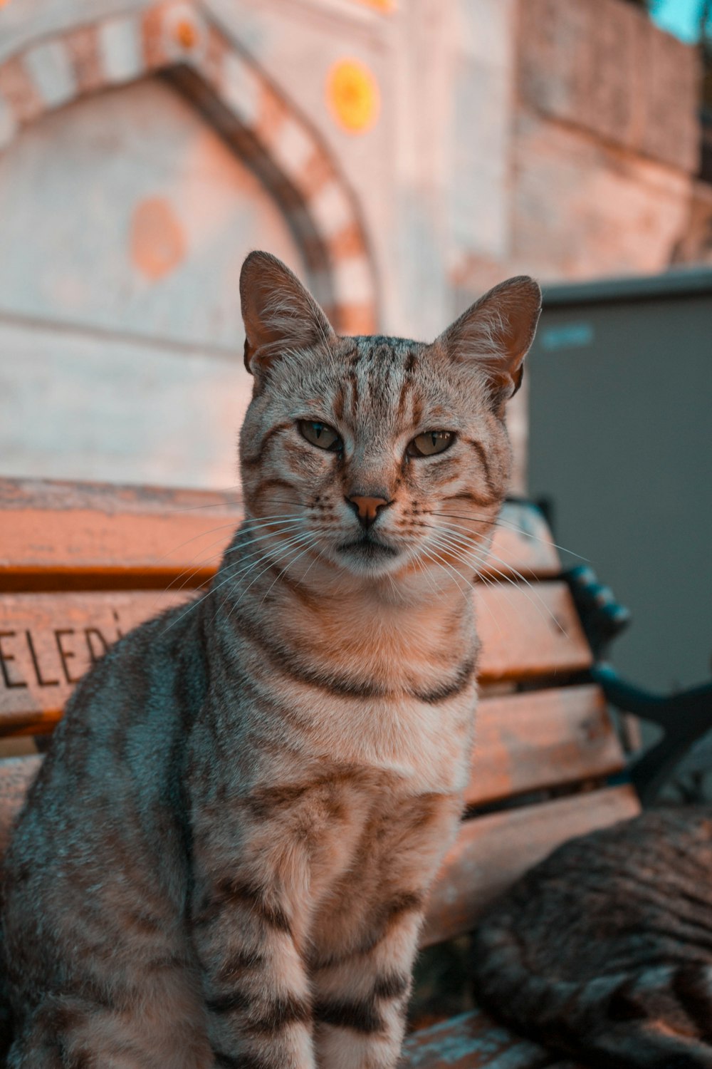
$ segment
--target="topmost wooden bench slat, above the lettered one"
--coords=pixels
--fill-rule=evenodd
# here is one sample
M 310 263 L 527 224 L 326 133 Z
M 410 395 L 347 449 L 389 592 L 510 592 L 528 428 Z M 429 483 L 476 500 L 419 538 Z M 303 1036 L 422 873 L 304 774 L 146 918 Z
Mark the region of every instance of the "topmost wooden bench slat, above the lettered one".
M 200 586 L 242 515 L 236 494 L 19 479 L 0 479 L 0 513 L 4 590 L 161 588 L 184 573 Z M 560 570 L 543 517 L 525 503 L 505 505 L 492 554 L 492 575 Z

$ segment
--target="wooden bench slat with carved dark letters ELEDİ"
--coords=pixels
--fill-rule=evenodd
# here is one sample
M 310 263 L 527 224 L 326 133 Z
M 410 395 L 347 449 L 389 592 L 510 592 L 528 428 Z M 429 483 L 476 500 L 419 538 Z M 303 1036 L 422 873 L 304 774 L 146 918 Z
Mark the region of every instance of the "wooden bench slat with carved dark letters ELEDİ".
M 480 680 L 553 676 L 590 664 L 568 588 L 542 583 L 535 589 L 536 599 L 527 587 L 477 588 Z M 0 733 L 50 730 L 93 659 L 118 634 L 188 597 L 194 591 L 1 594 Z M 543 621 L 540 602 L 549 613 Z

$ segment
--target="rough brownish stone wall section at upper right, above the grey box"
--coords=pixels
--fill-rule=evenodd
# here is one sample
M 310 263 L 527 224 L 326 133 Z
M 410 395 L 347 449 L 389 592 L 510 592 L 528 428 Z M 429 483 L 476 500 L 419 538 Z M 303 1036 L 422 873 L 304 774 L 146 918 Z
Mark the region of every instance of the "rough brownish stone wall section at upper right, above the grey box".
M 699 165 L 696 51 L 621 0 L 519 0 L 516 33 L 510 241 L 458 284 L 664 270 Z

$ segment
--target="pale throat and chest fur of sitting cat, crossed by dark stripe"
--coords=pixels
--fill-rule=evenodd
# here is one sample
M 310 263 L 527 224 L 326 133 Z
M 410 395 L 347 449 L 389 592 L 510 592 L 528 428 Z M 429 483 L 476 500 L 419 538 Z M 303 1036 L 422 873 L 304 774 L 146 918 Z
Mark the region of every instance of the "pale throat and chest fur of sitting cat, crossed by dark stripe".
M 352 599 L 338 614 L 322 606 L 307 625 L 291 604 L 281 623 L 305 675 L 271 675 L 269 686 L 304 724 L 305 742 L 318 739 L 337 764 L 397 774 L 415 794 L 465 787 L 477 652 L 469 606 Z

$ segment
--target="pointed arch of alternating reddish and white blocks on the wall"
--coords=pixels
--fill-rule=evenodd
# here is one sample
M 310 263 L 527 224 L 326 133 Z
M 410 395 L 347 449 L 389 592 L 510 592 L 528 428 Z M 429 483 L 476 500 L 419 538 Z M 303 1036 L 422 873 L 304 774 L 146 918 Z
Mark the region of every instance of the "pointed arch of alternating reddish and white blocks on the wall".
M 185 92 L 260 176 L 335 328 L 375 331 L 375 273 L 352 191 L 308 122 L 197 3 L 152 4 L 30 44 L 5 60 L 0 150 L 47 111 L 153 74 Z

